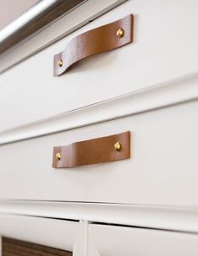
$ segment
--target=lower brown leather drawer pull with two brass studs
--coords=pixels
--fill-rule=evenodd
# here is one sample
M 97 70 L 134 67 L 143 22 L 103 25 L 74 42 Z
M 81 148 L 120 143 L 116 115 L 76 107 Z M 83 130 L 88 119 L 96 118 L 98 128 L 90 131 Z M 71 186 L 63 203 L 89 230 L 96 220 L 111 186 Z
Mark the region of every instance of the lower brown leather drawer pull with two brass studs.
M 130 132 L 125 132 L 55 147 L 53 167 L 93 165 L 128 158 L 130 158 Z

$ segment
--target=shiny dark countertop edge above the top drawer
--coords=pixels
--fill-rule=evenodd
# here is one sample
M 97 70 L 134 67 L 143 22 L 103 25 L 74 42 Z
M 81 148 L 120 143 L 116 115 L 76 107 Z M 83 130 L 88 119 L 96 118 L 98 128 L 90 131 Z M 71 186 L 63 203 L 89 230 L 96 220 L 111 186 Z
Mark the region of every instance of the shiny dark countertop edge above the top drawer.
M 87 0 L 43 0 L 0 31 L 0 54 Z

